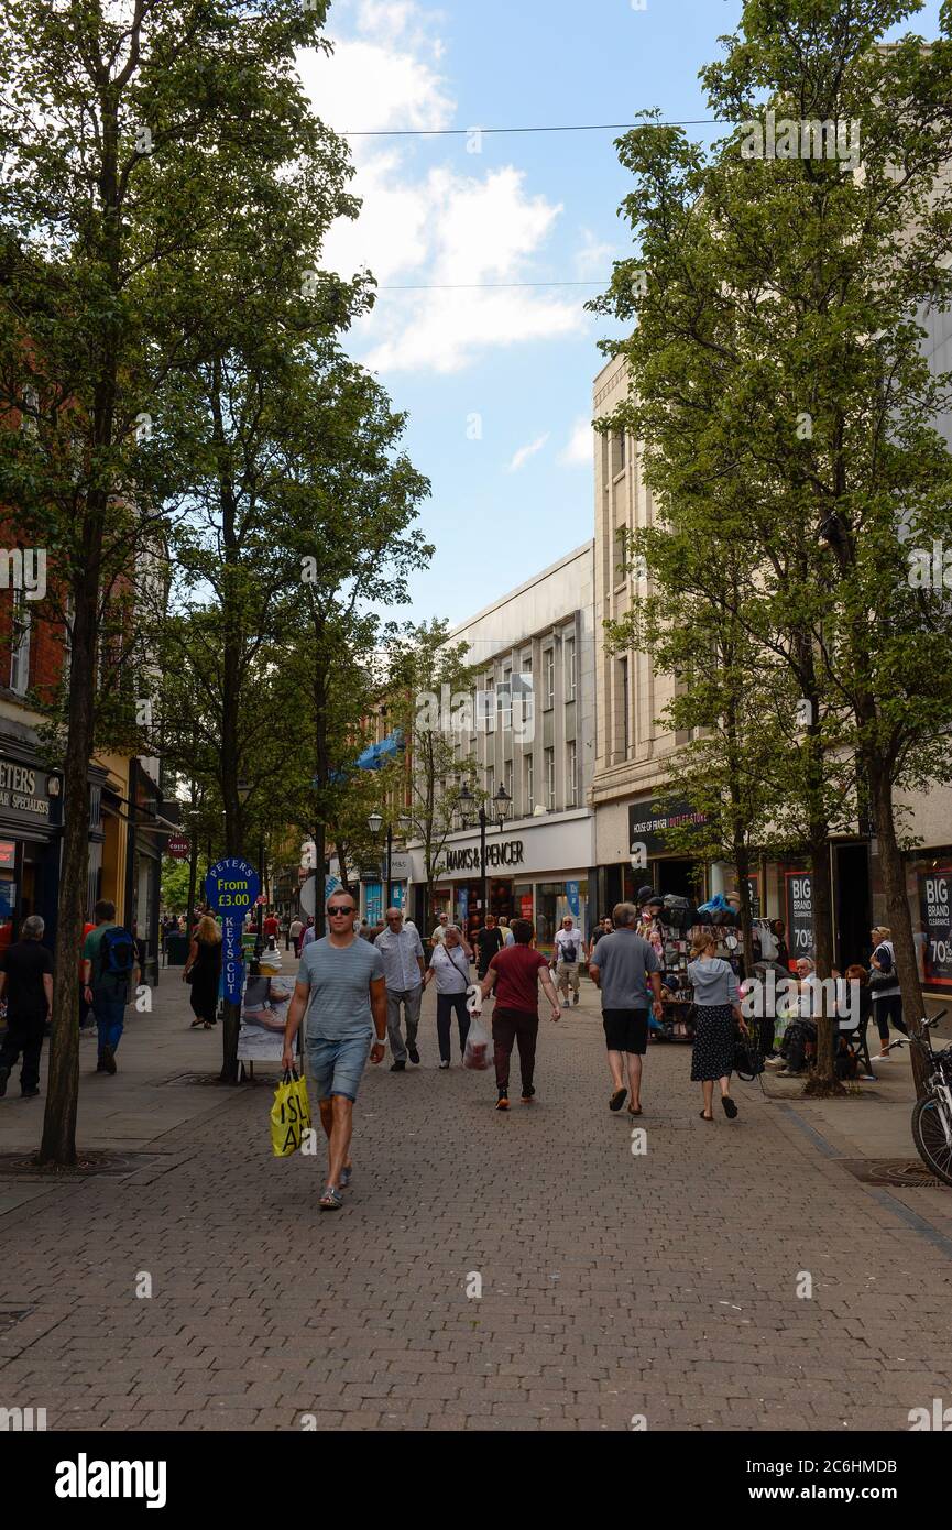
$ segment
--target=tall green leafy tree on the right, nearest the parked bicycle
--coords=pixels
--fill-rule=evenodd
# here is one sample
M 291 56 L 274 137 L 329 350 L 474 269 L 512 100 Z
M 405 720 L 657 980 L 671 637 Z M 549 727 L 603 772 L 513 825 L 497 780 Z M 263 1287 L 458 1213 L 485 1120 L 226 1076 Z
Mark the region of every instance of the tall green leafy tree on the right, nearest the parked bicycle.
M 703 73 L 735 132 L 710 156 L 657 124 L 621 141 L 641 248 L 600 304 L 637 318 L 617 349 L 658 497 L 686 483 L 706 493 L 710 536 L 724 480 L 745 497 L 764 626 L 856 760 L 912 1022 L 921 991 L 897 796 L 952 771 L 952 670 L 940 658 L 952 614 L 944 592 L 912 586 L 906 546 L 952 537 L 935 428 L 952 378 L 931 375 L 917 320 L 952 297 L 949 8 L 929 47 L 880 46 L 918 9 L 747 0 L 739 34 Z M 774 158 L 767 109 L 790 124 Z M 828 751 L 814 763 L 825 773 Z M 817 907 L 817 933 L 826 913 Z

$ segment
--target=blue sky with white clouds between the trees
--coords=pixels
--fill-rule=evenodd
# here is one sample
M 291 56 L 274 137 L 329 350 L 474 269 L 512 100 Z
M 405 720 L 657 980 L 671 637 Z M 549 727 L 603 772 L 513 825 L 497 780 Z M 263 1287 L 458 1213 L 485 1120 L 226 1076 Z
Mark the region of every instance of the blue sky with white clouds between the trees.
M 938 8 L 911 28 L 934 35 Z M 704 119 L 698 70 L 739 14 L 741 0 L 335 0 L 334 57 L 300 70 L 347 135 L 628 124 L 650 107 Z M 634 252 L 617 136 L 349 136 L 363 211 L 331 231 L 324 265 L 380 283 L 346 347 L 409 413 L 404 447 L 432 482 L 419 523 L 436 552 L 399 620 L 458 626 L 592 536 L 592 379 L 618 329 L 583 304 Z

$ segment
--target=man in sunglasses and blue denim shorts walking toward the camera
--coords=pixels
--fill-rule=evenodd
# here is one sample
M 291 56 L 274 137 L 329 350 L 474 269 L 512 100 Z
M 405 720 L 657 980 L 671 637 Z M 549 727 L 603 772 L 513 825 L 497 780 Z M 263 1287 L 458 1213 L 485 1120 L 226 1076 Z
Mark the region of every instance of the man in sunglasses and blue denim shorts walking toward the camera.
M 294 1037 L 308 1004 L 308 1065 L 317 1085 L 321 1126 L 328 1138 L 328 1184 L 323 1212 L 343 1206 L 350 1183 L 354 1105 L 367 1062 L 383 1062 L 387 1037 L 387 987 L 383 956 L 354 933 L 354 898 L 338 889 L 328 898 L 331 933 L 302 952 L 294 996 L 288 1005 L 282 1066 L 294 1066 Z

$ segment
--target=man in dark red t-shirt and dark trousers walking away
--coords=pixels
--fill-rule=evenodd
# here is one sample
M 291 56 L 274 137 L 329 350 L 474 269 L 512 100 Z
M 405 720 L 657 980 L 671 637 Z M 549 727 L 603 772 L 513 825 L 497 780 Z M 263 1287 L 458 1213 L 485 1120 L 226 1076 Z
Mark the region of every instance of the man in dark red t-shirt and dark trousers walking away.
M 530 920 L 513 920 L 514 946 L 496 952 L 482 981 L 481 993 L 487 999 L 496 988 L 493 1010 L 493 1047 L 496 1053 L 497 1111 L 510 1108 L 510 1057 L 513 1045 L 519 1043 L 519 1071 L 522 1073 L 522 1103 L 531 1105 L 536 1089 L 536 1037 L 539 1034 L 539 981 L 553 1007 L 553 1019 L 562 1013 L 559 994 L 549 978 L 549 964 L 540 952 L 533 950 L 536 930 Z

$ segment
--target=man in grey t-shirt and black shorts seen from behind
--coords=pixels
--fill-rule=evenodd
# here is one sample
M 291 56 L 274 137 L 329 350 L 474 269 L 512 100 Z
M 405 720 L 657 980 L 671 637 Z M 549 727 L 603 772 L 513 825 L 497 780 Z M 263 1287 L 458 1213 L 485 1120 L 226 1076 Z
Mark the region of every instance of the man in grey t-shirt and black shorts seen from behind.
M 631 1088 L 629 1115 L 641 1115 L 641 1059 L 647 1051 L 647 984 L 654 993 L 654 1016 L 661 1019 L 661 962 L 652 946 L 638 935 L 634 903 L 617 903 L 611 935 L 605 935 L 588 959 L 592 982 L 602 990 L 602 1024 L 612 1076 L 609 1109 L 620 1111 L 624 1088 L 623 1057 L 628 1059 Z

